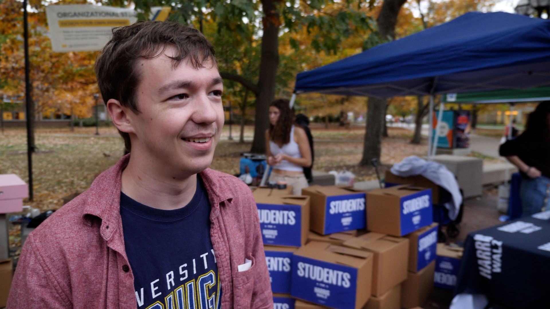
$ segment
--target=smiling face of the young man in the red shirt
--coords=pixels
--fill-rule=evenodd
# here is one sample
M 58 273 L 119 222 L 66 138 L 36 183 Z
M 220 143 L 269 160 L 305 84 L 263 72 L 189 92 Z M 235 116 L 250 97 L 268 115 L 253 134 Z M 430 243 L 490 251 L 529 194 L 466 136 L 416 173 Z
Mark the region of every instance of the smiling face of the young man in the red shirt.
M 132 158 L 188 176 L 212 162 L 224 122 L 223 84 L 212 60 L 195 69 L 183 59 L 174 68 L 168 57 L 173 53 L 167 47 L 160 57 L 136 63 L 140 113 L 127 112 L 128 133 Z

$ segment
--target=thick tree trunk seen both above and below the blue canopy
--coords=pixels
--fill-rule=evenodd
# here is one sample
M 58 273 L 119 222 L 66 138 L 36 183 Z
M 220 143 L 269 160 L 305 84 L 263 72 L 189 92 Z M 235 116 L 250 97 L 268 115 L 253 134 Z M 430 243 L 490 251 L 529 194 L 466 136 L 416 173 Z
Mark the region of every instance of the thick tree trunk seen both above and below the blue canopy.
M 378 31 L 383 38 L 395 38 L 397 15 L 406 0 L 384 0 L 376 19 Z M 381 106 L 375 106 L 375 104 Z M 367 125 L 365 126 L 365 144 L 363 157 L 359 165 L 368 165 L 372 158 L 380 159 L 382 144 L 382 125 L 386 118 L 386 100 L 368 97 Z

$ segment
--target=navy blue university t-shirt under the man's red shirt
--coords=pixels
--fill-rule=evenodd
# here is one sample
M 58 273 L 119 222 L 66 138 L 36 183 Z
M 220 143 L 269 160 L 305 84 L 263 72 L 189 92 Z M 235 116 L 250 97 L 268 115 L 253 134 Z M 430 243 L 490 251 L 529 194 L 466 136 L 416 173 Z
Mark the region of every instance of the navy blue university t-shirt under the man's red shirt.
M 193 200 L 185 207 L 152 208 L 120 192 L 120 216 L 138 308 L 221 307 L 210 202 L 198 175 Z

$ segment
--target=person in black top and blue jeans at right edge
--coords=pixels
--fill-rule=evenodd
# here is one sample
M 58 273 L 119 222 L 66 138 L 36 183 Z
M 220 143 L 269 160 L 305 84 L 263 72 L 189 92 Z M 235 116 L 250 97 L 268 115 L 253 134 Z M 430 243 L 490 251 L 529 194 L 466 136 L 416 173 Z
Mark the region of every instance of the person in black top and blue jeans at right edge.
M 520 170 L 523 216 L 550 210 L 550 101 L 539 103 L 524 133 L 502 144 L 499 152 Z

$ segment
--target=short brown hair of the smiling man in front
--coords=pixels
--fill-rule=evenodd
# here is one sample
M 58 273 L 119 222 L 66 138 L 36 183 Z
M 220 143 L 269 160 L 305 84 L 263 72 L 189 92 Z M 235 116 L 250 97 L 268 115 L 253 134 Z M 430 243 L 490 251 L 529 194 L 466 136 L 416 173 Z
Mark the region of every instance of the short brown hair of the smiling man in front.
M 169 21 L 138 21 L 130 26 L 117 27 L 95 64 L 103 101 L 107 104 L 113 98 L 139 114 L 135 92 L 142 72 L 135 64 L 139 59 L 161 56 L 167 46 L 176 49 L 175 56 L 170 57 L 174 68 L 184 59 L 195 69 L 204 68 L 202 63 L 209 59 L 217 66 L 214 46 L 199 30 Z M 129 134 L 119 133 L 130 151 Z

